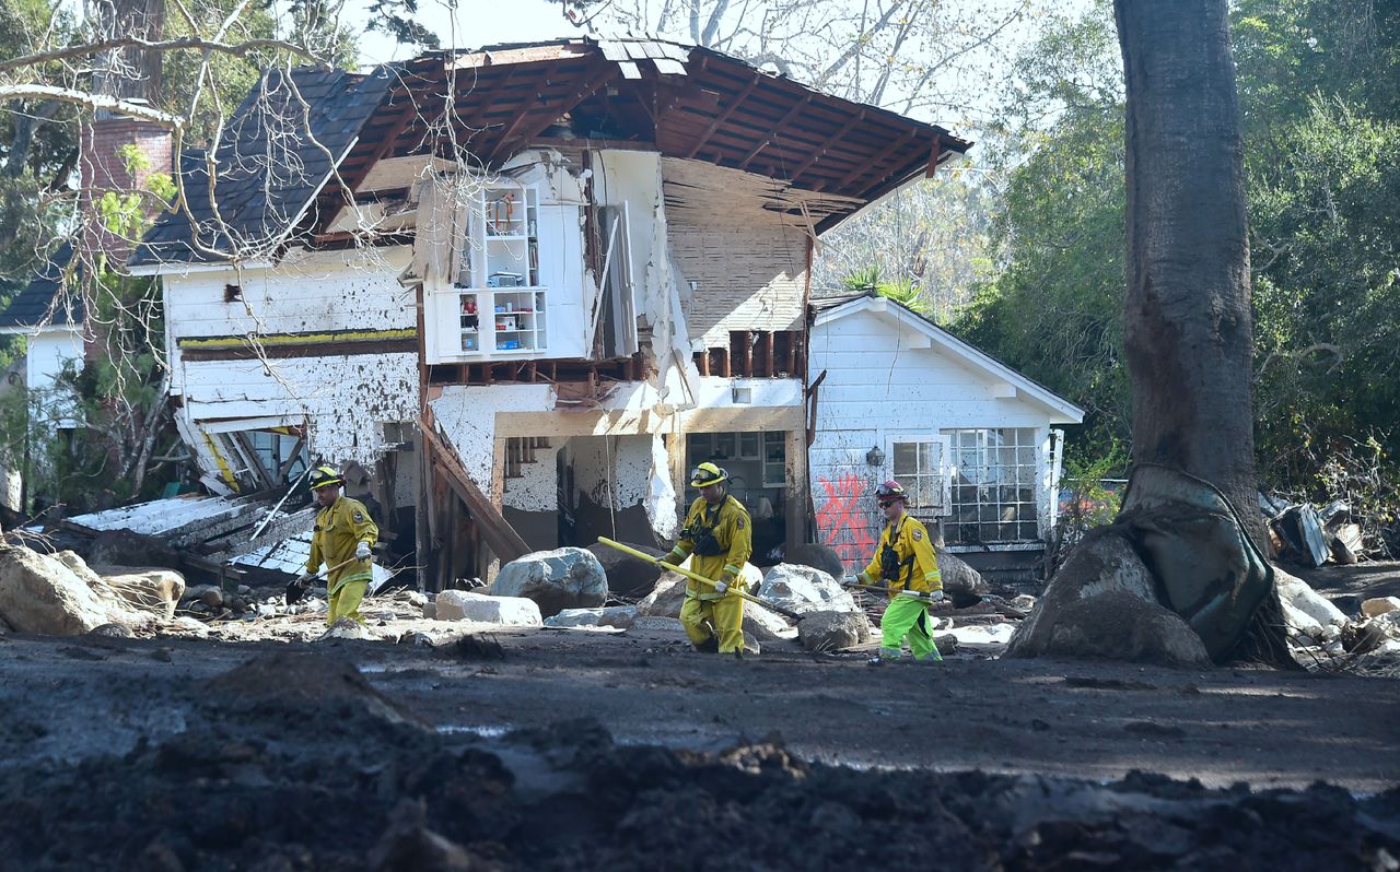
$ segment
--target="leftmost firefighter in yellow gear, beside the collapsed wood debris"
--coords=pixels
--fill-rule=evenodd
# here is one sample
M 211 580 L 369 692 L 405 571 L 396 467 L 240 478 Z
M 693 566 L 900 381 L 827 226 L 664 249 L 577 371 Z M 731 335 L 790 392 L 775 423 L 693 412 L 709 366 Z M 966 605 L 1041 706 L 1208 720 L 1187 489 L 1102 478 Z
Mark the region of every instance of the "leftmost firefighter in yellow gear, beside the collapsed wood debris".
M 311 470 L 311 491 L 321 511 L 316 512 L 316 526 L 311 535 L 311 557 L 307 558 L 307 574 L 302 579 L 309 582 L 322 561 L 332 568 L 326 577 L 329 600 L 326 626 L 335 624 L 342 617 L 364 623 L 360 602 L 372 578 L 370 549 L 379 537 L 379 528 L 370 519 L 370 509 L 364 502 L 340 493 L 343 483 L 340 473 L 330 466 Z M 344 565 L 340 565 L 342 563 Z

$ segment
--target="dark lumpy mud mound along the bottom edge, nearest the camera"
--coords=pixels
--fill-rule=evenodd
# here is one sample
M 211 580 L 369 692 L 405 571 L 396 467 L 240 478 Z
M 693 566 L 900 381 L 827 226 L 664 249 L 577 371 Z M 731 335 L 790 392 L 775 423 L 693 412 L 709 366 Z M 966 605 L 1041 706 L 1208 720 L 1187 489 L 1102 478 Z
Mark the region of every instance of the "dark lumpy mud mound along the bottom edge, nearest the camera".
M 776 738 L 720 754 L 617 747 L 591 721 L 489 743 L 386 719 L 358 690 L 294 694 L 304 719 L 290 728 L 251 666 L 220 683 L 235 703 L 210 703 L 172 740 L 6 771 L 0 868 L 1236 872 L 1400 858 L 1400 791 L 853 771 Z

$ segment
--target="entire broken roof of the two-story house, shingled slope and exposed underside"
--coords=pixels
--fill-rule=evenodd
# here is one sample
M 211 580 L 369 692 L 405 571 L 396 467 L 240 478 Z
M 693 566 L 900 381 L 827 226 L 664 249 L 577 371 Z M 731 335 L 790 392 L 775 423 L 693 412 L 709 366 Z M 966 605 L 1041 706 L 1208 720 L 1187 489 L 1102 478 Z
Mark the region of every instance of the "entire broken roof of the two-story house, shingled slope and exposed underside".
M 319 144 L 294 136 L 307 111 L 284 76 L 266 76 L 218 148 L 214 199 L 227 230 L 214 220 L 204 169 L 188 167 L 193 228 L 162 217 L 133 266 L 223 260 L 231 245 L 244 259 L 272 258 L 294 234 L 314 241 L 346 192 L 393 157 L 448 155 L 493 169 L 532 146 L 647 148 L 820 195 L 771 206 L 801 211 L 820 232 L 972 146 L 741 59 L 657 39 L 434 52 L 370 76 L 298 69 L 290 80 Z

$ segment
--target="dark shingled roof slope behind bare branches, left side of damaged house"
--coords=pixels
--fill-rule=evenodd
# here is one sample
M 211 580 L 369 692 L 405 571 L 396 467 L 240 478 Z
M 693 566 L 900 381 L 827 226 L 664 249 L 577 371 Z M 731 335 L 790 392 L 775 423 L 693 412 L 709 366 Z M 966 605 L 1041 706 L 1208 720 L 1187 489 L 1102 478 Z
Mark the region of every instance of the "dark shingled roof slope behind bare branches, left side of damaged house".
M 315 67 L 266 71 L 224 130 L 213 188 L 207 151 L 186 150 L 181 174 L 188 214 L 162 214 L 127 263 L 218 262 L 232 252 L 272 258 L 354 144 L 388 83 L 388 67 L 370 76 Z

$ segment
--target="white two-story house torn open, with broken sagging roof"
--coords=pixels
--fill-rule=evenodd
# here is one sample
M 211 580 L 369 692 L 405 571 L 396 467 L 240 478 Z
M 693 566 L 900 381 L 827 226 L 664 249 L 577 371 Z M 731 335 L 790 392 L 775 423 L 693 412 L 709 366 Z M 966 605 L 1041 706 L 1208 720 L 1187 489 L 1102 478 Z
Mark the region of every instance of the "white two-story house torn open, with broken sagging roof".
M 206 486 L 349 467 L 428 588 L 673 537 L 706 459 L 770 549 L 811 535 L 813 241 L 967 147 L 658 41 L 272 71 L 130 265 Z

